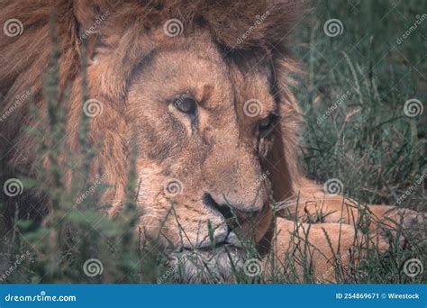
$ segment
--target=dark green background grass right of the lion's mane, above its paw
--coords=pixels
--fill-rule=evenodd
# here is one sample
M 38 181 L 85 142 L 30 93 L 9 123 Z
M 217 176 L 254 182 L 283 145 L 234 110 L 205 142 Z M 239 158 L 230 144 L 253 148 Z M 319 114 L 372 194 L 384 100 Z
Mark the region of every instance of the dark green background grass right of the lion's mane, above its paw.
M 427 5 L 352 3 L 358 1 L 322 2 L 313 23 L 295 33 L 301 41 L 295 54 L 303 55 L 308 68 L 304 87 L 296 91 L 306 120 L 302 164 L 321 182 L 341 179 L 347 195 L 396 204 L 426 168 L 426 114 L 404 114 L 405 101 L 427 98 L 426 24 L 402 44 L 396 40 Z M 340 19 L 344 30 L 330 38 L 323 24 L 332 18 Z M 404 207 L 426 210 L 425 188 L 419 188 Z

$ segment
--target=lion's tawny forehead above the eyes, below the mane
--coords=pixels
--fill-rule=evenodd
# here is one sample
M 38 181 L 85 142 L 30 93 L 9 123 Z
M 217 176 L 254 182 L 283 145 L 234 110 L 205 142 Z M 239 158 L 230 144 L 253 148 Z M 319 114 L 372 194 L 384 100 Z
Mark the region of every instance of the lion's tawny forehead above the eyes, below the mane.
M 212 41 L 196 46 L 191 42 L 183 40 L 151 56 L 148 65 L 134 74 L 130 94 L 159 103 L 177 95 L 192 95 L 206 110 L 232 111 L 234 104 L 241 108 L 248 100 L 259 101 L 266 114 L 275 109 L 267 63 L 248 59 L 242 68 L 224 59 L 229 55 L 213 48 Z M 131 113 L 138 113 L 132 108 L 140 107 L 131 104 Z

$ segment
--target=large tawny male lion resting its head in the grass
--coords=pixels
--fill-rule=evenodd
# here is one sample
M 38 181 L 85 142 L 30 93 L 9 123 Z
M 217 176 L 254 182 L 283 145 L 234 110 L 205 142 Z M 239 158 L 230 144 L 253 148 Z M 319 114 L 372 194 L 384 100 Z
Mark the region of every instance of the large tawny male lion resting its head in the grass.
M 284 40 L 302 9 L 299 1 L 281 0 L 3 0 L 1 23 L 9 35 L 0 41 L 2 110 L 30 91 L 46 117 L 43 77 L 57 52 L 64 138 L 71 155 L 77 152 L 77 126 L 89 113 L 97 149 L 90 171 L 112 184 L 103 193 L 112 204 L 106 214 L 114 219 L 123 209 L 136 147 L 138 225 L 171 263 L 184 262 L 188 281 L 203 275 L 230 281 L 233 268 L 247 261 L 245 240 L 268 267 L 268 253 L 286 262 L 286 251 L 305 239 L 313 247 L 314 275 L 322 278 L 333 254 L 350 251 L 358 239 L 361 210 L 383 248 L 380 226 L 402 215 L 404 227 L 413 228 L 422 214 L 325 194 L 299 171 L 303 119 L 291 90 L 299 68 Z M 36 160 L 22 128 L 45 121 L 34 119 L 28 104 L 7 114 L 2 180 L 37 177 L 50 159 Z M 64 167 L 66 186 L 73 172 Z M 25 194 L 32 204 L 43 197 L 37 189 Z M 13 217 L 14 200 L 3 198 L 5 216 Z M 29 212 L 20 207 L 20 214 Z M 314 223 L 319 213 L 324 218 Z

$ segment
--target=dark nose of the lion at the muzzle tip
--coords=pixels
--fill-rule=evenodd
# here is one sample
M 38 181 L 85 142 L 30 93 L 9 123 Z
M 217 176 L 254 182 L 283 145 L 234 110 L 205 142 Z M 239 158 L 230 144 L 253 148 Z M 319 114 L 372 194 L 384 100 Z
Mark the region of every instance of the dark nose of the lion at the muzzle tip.
M 249 210 L 245 211 L 241 210 L 241 206 L 238 208 L 238 206 L 233 206 L 233 204 L 220 204 L 208 193 L 204 193 L 203 201 L 207 207 L 221 213 L 227 222 L 237 222 L 241 224 L 243 222 L 253 221 L 260 212 L 259 207 L 249 207 Z

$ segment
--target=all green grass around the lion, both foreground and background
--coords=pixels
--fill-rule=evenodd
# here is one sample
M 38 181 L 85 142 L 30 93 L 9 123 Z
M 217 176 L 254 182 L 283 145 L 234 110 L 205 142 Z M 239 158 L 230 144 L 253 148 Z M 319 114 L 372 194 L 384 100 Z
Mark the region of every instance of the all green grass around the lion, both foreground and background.
M 405 101 L 417 98 L 425 102 L 427 98 L 427 21 L 401 44 L 396 43 L 413 25 L 415 15 L 426 13 L 426 6 L 423 0 L 323 1 L 314 4 L 313 10 L 295 24 L 290 41 L 296 44 L 292 50 L 306 71 L 295 94 L 306 120 L 301 166 L 308 177 L 319 182 L 338 179 L 342 193 L 369 204 L 399 204 L 418 211 L 427 210 L 425 182 L 416 185 L 427 167 L 426 113 L 413 118 L 404 114 Z M 329 37 L 323 31 L 323 24 L 332 18 L 343 24 L 341 35 Z M 37 181 L 23 179 L 26 188 L 37 186 L 45 192 L 55 211 L 42 224 L 16 213 L 19 219 L 14 221 L 13 231 L 0 248 L 3 256 L 0 270 L 10 272 L 1 282 L 186 282 L 182 263 L 170 267 L 155 245 L 141 243 L 141 234 L 131 231 L 136 223 L 133 168 L 129 171 L 130 193 L 123 215 L 115 221 L 96 209 L 104 205 L 100 204 L 100 194 L 108 183 L 97 184 L 94 193 L 79 204 L 74 203 L 75 196 L 94 186 L 88 174 L 74 178 L 70 188 L 63 185 L 60 170 L 64 162 L 59 160 L 59 153 L 66 149 L 60 141 L 65 130 L 62 124 L 65 115 L 57 107 L 55 57 L 54 53 L 45 86 L 45 95 L 50 98 L 50 122 L 49 130 L 43 134 L 49 138 L 41 140 L 37 149 L 40 155 L 49 154 L 50 170 Z M 71 159 L 65 164 L 68 168 L 90 169 L 94 151 L 86 141 L 87 127 L 87 118 L 82 116 L 79 140 L 84 159 Z M 37 138 L 34 131 L 28 133 Z M 48 177 L 54 185 L 43 184 Z M 412 186 L 415 188 L 411 194 L 399 203 L 399 197 Z M 361 224 L 357 225 L 363 231 Z M 350 276 L 341 267 L 343 256 L 334 251 L 332 276 L 342 283 L 425 283 L 425 273 L 411 278 L 402 271 L 408 258 L 420 258 L 425 264 L 425 242 L 405 233 L 402 236 L 406 240 L 399 240 L 403 231 L 399 230 L 398 222 L 395 229 L 395 233 L 388 234 L 390 248 L 380 253 L 375 242 L 371 242 L 363 252 L 363 260 L 352 264 Z M 318 283 L 313 278 L 315 268 L 309 261 L 314 248 L 307 243 L 306 234 L 306 230 L 295 225 L 294 239 L 301 245 L 286 253 L 286 273 L 277 273 L 277 259 L 271 255 L 267 278 L 250 277 L 236 270 L 235 280 L 239 283 Z M 253 243 L 247 245 L 248 257 L 258 257 Z M 356 243 L 356 255 L 362 253 L 361 246 Z M 90 276 L 89 272 L 88 276 L 83 272 L 83 265 L 91 258 L 102 260 L 102 264 L 93 263 L 92 268 L 99 271 L 102 267 L 102 275 Z M 18 259 L 20 262 L 16 265 Z M 16 267 L 10 270 L 11 265 Z M 302 276 L 298 268 L 302 268 Z M 200 270 L 204 271 L 203 265 Z M 222 278 L 211 276 L 207 282 L 222 282 Z

